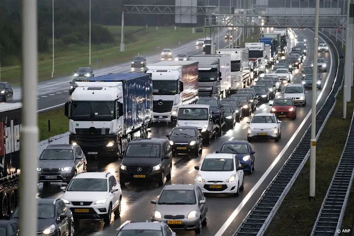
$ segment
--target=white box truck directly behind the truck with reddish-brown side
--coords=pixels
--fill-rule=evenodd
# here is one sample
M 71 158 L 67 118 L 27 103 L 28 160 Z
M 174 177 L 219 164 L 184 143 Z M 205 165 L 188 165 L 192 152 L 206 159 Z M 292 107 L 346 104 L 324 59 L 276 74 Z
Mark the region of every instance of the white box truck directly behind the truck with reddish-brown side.
M 231 89 L 230 54 L 210 54 L 190 56 L 189 60 L 198 61 L 199 96 L 227 97 Z

